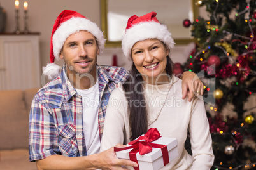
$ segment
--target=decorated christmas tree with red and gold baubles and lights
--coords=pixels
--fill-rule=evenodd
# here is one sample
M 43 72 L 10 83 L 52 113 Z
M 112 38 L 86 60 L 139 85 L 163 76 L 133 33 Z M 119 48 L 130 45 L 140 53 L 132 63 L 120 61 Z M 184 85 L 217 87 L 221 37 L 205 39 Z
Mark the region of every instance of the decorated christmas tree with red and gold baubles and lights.
M 256 169 L 256 0 L 203 0 L 197 6 L 206 6 L 209 19 L 184 20 L 196 47 L 176 66 L 204 82 L 211 169 Z

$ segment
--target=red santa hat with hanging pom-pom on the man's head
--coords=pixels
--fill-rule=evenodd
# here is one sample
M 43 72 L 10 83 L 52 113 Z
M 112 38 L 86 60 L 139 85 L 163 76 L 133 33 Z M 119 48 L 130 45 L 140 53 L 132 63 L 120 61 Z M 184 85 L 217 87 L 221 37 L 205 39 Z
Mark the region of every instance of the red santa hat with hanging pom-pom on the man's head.
M 103 32 L 99 30 L 96 23 L 91 22 L 85 16 L 76 11 L 64 10 L 55 20 L 52 29 L 51 44 L 50 44 L 50 62 L 43 67 L 43 74 L 48 76 L 48 79 L 54 79 L 59 75 L 60 66 L 54 63 L 55 59 L 59 60 L 60 51 L 66 39 L 80 30 L 86 30 L 96 37 L 97 46 L 100 53 L 104 49 L 106 39 Z

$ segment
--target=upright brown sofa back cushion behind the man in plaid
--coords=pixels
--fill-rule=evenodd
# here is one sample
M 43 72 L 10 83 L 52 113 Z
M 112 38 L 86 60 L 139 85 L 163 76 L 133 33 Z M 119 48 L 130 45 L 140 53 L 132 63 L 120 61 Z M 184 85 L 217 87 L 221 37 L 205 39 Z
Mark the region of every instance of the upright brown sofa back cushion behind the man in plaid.
M 0 150 L 28 148 L 29 114 L 22 90 L 0 91 Z

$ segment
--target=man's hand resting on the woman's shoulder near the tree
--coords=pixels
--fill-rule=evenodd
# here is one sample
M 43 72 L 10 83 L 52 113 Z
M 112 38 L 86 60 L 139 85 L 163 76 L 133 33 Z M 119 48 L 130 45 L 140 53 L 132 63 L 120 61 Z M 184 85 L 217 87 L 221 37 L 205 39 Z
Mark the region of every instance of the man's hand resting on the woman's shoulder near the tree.
M 194 72 L 183 72 L 181 75 L 182 79 L 182 98 L 185 99 L 188 96 L 190 102 L 196 95 L 203 95 L 204 84 L 200 81 Z

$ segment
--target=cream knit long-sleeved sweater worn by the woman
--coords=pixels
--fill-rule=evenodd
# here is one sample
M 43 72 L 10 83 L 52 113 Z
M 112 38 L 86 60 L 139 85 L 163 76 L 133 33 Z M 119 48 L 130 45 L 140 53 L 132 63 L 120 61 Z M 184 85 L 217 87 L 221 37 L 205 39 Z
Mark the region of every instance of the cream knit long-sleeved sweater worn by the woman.
M 187 98 L 183 100 L 181 80 L 174 76 L 169 84 L 146 84 L 145 98 L 148 105 L 148 129 L 157 128 L 161 136 L 178 140 L 178 158 L 162 169 L 210 169 L 214 155 L 202 98 L 195 97 L 191 102 L 188 102 Z M 145 102 L 138 101 L 139 104 L 143 105 Z M 188 130 L 192 155 L 184 148 Z M 101 150 L 113 147 L 117 143 L 126 144 L 129 142 L 129 136 L 127 100 L 124 91 L 117 88 L 111 93 L 108 101 Z

